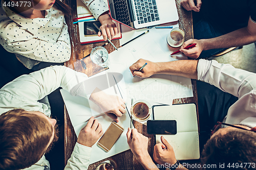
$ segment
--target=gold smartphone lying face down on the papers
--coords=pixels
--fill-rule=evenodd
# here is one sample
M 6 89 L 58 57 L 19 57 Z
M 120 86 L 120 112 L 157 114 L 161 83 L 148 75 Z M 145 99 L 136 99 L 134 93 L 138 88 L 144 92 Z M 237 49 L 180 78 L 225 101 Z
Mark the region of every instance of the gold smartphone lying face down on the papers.
M 123 133 L 123 127 L 116 122 L 112 122 L 103 136 L 99 139 L 97 145 L 105 152 L 109 152 L 117 139 Z

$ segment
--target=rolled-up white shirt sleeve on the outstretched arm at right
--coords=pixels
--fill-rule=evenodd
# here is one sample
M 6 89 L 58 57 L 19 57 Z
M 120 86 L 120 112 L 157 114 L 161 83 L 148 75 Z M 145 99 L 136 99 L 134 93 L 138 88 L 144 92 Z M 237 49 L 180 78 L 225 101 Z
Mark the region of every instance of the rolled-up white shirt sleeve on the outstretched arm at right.
M 234 68 L 230 64 L 200 59 L 197 71 L 198 80 L 214 85 L 238 98 L 256 88 L 256 74 Z

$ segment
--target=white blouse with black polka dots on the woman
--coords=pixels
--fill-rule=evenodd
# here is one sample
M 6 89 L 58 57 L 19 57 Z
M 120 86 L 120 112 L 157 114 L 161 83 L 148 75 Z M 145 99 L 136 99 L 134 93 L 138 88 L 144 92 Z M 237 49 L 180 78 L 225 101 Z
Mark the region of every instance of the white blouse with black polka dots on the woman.
M 94 17 L 108 11 L 103 0 L 83 0 Z M 0 44 L 27 68 L 41 61 L 62 63 L 71 55 L 70 37 L 64 14 L 54 6 L 45 18 L 26 18 L 8 7 L 0 8 Z

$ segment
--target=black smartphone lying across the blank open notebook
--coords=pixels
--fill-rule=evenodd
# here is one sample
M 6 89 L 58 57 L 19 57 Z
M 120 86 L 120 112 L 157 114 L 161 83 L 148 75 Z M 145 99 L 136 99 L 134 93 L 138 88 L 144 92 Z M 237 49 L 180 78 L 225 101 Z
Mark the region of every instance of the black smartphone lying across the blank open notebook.
M 147 120 L 148 134 L 175 135 L 177 134 L 176 120 Z

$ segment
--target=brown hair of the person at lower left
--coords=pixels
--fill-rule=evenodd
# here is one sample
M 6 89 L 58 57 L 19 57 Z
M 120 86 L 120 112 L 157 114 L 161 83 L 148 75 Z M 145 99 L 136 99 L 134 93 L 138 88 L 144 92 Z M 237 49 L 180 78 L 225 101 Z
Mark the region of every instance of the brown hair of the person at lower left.
M 53 127 L 47 119 L 23 109 L 0 115 L 0 169 L 24 169 L 44 155 Z

